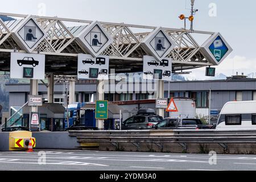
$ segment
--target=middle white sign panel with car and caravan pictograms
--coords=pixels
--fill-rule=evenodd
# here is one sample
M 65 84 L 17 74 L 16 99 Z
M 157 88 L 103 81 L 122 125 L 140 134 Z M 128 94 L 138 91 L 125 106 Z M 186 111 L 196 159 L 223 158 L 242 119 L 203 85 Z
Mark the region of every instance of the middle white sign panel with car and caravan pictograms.
M 109 56 L 79 54 L 77 69 L 79 79 L 109 80 Z

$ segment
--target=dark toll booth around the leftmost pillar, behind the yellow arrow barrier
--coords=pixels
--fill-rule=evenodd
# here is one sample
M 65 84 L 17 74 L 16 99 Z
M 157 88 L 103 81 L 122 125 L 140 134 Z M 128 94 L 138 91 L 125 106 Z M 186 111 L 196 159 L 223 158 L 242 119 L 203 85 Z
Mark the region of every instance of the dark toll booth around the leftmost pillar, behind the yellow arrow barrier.
M 63 107 L 63 105 L 46 103 L 38 107 L 38 113 L 40 113 L 41 131 L 63 131 L 65 113 L 65 107 Z M 29 121 L 30 108 L 25 106 L 23 108 L 22 126 L 28 127 Z

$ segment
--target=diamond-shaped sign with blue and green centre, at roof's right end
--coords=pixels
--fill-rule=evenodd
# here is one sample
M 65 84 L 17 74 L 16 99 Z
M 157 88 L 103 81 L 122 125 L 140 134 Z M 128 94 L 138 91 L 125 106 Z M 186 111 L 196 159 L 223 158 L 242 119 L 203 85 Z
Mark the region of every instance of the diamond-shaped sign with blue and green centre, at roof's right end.
M 201 49 L 207 60 L 214 65 L 219 65 L 233 51 L 220 33 L 210 36 Z

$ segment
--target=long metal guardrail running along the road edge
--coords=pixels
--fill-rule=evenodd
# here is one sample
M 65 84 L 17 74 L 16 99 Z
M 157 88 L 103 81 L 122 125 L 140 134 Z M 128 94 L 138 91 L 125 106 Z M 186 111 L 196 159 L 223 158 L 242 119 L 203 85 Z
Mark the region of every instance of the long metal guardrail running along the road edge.
M 132 143 L 139 150 L 141 143 L 154 143 L 163 149 L 164 143 L 177 143 L 187 150 L 187 144 L 220 144 L 224 151 L 231 143 L 256 143 L 256 130 L 130 130 L 130 131 L 69 131 L 79 143 Z

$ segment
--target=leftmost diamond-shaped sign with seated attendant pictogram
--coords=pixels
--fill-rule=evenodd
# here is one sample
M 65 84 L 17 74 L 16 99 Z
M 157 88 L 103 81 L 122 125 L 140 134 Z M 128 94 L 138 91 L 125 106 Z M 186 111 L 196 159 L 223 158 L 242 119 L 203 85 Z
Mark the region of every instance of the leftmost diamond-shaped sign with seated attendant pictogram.
M 20 46 L 31 53 L 46 37 L 46 33 L 32 16 L 27 16 L 15 29 L 14 36 Z

